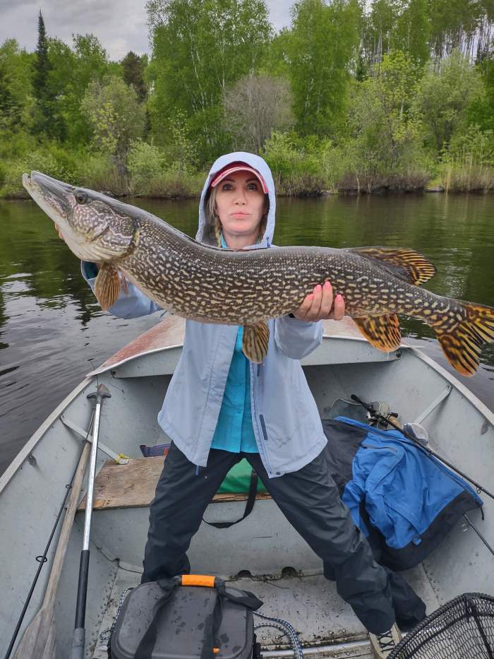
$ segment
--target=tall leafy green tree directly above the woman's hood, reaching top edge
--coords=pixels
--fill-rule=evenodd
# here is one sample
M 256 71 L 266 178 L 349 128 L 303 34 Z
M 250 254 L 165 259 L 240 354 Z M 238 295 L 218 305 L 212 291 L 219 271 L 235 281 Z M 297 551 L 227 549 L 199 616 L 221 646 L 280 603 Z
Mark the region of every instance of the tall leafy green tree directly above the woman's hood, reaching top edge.
M 258 66 L 271 27 L 263 0 L 150 0 L 153 134 L 183 112 L 205 157 L 222 149 L 224 89 Z

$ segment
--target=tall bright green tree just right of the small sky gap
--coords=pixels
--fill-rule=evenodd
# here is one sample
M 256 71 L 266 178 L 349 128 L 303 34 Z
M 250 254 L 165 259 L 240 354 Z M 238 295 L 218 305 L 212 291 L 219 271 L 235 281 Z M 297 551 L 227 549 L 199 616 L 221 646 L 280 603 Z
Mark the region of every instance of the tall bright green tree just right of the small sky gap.
M 334 136 L 347 109 L 349 62 L 359 44 L 355 0 L 301 0 L 292 9 L 287 42 L 296 129 Z

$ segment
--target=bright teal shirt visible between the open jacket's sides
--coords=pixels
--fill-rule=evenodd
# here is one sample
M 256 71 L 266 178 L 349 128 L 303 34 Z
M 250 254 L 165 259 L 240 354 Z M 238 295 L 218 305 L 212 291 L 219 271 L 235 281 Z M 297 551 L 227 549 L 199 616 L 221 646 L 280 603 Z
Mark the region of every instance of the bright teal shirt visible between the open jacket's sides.
M 223 236 L 222 247 L 227 247 Z M 242 352 L 242 338 L 243 327 L 239 327 L 211 448 L 259 453 L 252 427 L 251 365 Z

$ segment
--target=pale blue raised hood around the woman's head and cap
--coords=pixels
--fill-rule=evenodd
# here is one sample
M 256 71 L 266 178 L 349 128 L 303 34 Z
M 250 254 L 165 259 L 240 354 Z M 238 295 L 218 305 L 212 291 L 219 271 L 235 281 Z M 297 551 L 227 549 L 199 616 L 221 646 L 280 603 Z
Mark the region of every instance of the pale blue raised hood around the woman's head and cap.
M 276 216 L 276 195 L 275 195 L 275 182 L 272 179 L 272 174 L 270 168 L 267 166 L 267 162 L 260 157 L 260 155 L 255 155 L 254 153 L 247 153 L 246 151 L 234 151 L 234 153 L 227 153 L 222 155 L 221 158 L 218 158 L 212 165 L 209 174 L 207 174 L 207 179 L 203 187 L 203 193 L 200 196 L 199 202 L 199 227 L 195 239 L 200 242 L 205 242 L 208 244 L 213 244 L 212 239 L 207 231 L 206 227 L 206 213 L 205 213 L 205 198 L 207 191 L 210 186 L 215 174 L 222 170 L 223 167 L 229 165 L 231 162 L 245 162 L 246 165 L 250 165 L 255 170 L 257 170 L 263 179 L 266 182 L 268 196 L 270 198 L 270 210 L 267 213 L 267 223 L 266 230 L 264 232 L 261 242 L 255 247 L 268 247 L 272 244 L 272 235 L 275 232 L 275 216 Z

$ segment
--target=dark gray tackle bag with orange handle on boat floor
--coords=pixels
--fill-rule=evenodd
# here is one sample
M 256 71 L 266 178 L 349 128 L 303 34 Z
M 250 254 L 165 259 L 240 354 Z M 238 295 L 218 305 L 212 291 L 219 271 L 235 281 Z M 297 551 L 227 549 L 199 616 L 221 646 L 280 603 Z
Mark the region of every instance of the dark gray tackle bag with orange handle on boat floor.
M 109 640 L 112 659 L 261 659 L 253 611 L 263 602 L 215 576 L 141 583 L 126 595 Z

